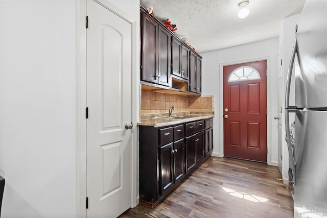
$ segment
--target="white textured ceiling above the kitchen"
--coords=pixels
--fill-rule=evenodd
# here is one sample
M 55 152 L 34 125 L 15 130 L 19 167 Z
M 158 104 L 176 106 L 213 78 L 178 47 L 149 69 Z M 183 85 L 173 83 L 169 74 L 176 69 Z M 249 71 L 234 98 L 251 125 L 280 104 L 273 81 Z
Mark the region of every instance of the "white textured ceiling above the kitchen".
M 282 19 L 301 13 L 306 0 L 249 0 L 248 17 L 237 16 L 241 0 L 141 0 L 154 16 L 169 18 L 178 36 L 198 53 L 278 37 Z

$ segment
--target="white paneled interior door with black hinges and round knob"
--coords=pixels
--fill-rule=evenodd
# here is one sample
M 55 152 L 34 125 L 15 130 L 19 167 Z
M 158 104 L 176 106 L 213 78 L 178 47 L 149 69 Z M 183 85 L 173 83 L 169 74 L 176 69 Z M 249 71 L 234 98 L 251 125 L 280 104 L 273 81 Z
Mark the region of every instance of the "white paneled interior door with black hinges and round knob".
M 87 1 L 87 217 L 131 207 L 131 23 Z

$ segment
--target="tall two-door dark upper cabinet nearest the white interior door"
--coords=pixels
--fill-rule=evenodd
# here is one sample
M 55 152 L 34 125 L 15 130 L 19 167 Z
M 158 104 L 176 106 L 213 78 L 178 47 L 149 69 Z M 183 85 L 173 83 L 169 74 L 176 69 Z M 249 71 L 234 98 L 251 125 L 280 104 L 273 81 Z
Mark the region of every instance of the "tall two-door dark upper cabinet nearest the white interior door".
M 142 13 L 141 80 L 169 86 L 171 35 L 146 13 Z

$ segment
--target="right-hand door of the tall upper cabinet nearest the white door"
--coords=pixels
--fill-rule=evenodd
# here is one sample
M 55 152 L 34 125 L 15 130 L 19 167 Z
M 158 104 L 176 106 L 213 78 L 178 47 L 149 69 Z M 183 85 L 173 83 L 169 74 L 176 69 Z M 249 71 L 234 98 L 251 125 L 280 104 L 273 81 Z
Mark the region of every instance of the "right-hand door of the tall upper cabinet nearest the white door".
M 171 35 L 159 26 L 158 30 L 158 84 L 169 86 Z

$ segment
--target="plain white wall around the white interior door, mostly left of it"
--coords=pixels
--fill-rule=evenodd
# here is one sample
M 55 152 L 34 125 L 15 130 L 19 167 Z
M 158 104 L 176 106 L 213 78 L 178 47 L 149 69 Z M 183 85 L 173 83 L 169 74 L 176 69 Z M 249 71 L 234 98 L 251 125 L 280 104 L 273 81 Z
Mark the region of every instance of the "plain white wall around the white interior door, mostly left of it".
M 139 0 L 110 2 L 139 20 Z M 80 210 L 81 4 L 0 1 L 2 217 L 76 217 Z

